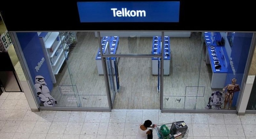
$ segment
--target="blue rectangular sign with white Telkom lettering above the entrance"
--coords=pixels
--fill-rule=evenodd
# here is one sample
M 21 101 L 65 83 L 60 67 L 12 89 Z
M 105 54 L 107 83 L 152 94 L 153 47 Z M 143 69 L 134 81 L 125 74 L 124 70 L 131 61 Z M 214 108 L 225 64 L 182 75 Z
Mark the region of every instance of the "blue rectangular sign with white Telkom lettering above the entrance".
M 77 2 L 80 22 L 179 22 L 179 1 Z

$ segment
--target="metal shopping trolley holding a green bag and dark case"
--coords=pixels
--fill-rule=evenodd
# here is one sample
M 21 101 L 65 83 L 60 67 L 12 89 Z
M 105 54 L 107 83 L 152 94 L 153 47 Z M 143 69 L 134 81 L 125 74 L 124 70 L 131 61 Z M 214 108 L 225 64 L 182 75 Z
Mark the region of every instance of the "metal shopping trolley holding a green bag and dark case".
M 163 134 L 161 133 L 160 128 L 162 125 L 166 125 L 169 128 L 170 133 L 168 136 L 163 136 Z M 158 139 L 186 139 L 188 138 L 189 134 L 188 126 L 185 124 L 184 121 L 157 125 L 155 127 L 155 130 L 157 132 Z

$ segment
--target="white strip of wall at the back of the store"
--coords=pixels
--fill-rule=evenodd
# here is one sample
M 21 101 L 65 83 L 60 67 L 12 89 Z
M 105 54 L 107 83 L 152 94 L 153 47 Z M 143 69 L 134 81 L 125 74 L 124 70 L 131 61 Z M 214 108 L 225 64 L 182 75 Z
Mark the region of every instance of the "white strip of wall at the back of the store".
M 170 37 L 190 37 L 191 32 L 164 32 L 165 36 Z M 153 37 L 161 36 L 160 31 L 101 31 L 100 36 L 119 36 L 119 37 Z M 95 32 L 95 37 L 98 37 Z

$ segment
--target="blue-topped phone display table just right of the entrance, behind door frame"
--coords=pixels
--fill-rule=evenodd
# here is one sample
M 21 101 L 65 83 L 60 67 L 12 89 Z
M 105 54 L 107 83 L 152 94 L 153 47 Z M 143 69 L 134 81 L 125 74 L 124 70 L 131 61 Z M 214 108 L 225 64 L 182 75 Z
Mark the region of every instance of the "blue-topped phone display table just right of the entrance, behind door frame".
M 165 36 L 163 41 L 161 36 L 154 36 L 152 42 L 152 54 L 161 54 L 164 48 L 164 75 L 170 74 L 170 37 Z M 158 58 L 152 58 L 152 74 L 158 75 Z

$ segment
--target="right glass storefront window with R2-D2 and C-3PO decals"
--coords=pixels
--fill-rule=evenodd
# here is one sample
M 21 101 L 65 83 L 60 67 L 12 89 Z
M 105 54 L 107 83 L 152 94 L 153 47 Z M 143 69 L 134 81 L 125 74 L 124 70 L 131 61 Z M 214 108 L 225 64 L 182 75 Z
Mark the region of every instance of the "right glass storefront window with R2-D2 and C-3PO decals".
M 191 32 L 188 38 L 170 38 L 163 108 L 236 110 L 252 34 Z

